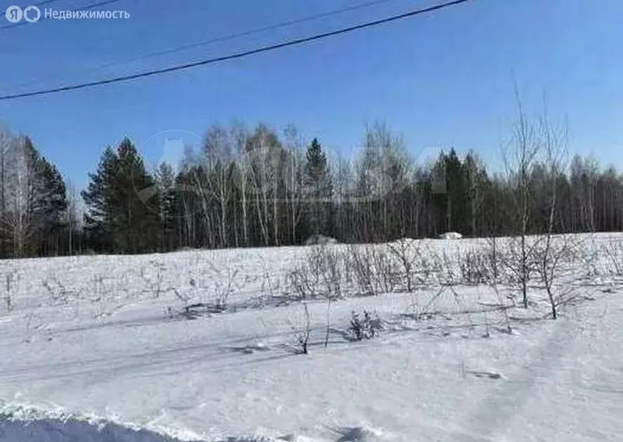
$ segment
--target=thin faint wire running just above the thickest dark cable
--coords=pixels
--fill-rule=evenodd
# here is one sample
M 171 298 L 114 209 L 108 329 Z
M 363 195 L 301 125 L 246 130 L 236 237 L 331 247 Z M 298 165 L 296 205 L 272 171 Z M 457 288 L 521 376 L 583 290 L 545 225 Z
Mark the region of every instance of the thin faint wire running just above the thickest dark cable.
M 47 0 L 47 1 L 57 1 L 57 0 Z M 362 4 L 358 4 L 358 5 L 354 5 L 354 6 L 348 6 L 346 8 L 341 8 L 341 9 L 334 9 L 333 11 L 326 11 L 324 13 L 319 13 L 319 14 L 316 14 L 316 15 L 309 15 L 308 17 L 297 18 L 297 19 L 294 19 L 294 20 L 288 20 L 286 22 L 275 23 L 273 25 L 268 25 L 268 26 L 265 26 L 265 27 L 258 27 L 258 28 L 255 28 L 255 29 L 251 29 L 249 31 L 238 32 L 236 34 L 228 34 L 228 35 L 224 35 L 224 36 L 217 36 L 217 37 L 214 37 L 212 39 L 200 41 L 198 43 L 190 43 L 190 44 L 186 44 L 186 45 L 183 45 L 183 46 L 177 46 L 175 48 L 168 48 L 168 49 L 163 49 L 162 51 L 156 51 L 156 52 L 152 52 L 152 53 L 148 53 L 148 54 L 144 54 L 144 55 L 138 55 L 137 57 L 129 58 L 129 59 L 126 59 L 126 60 L 105 62 L 105 63 L 101 63 L 100 65 L 96 65 L 96 66 L 93 66 L 93 67 L 90 67 L 90 68 L 87 68 L 87 69 L 81 69 L 81 71 L 82 72 L 95 72 L 95 71 L 98 71 L 100 69 L 105 69 L 107 67 L 122 65 L 122 64 L 125 64 L 125 63 L 136 62 L 136 61 L 139 61 L 139 60 L 145 60 L 147 58 L 154 58 L 154 57 L 158 57 L 159 55 L 168 55 L 168 54 L 172 54 L 172 53 L 178 53 L 178 52 L 181 52 L 181 51 L 186 51 L 188 49 L 195 49 L 195 48 L 200 48 L 200 47 L 203 47 L 203 46 L 208 46 L 208 45 L 210 45 L 212 43 L 218 43 L 218 42 L 221 42 L 221 41 L 228 41 L 228 40 L 237 39 L 237 38 L 244 37 L 244 36 L 260 34 L 262 32 L 271 31 L 273 29 L 279 29 L 281 27 L 288 27 L 288 26 L 297 25 L 297 24 L 303 23 L 303 22 L 310 22 L 310 21 L 313 21 L 313 20 L 319 20 L 320 18 L 327 18 L 327 17 L 330 17 L 332 15 L 338 15 L 338 14 L 343 14 L 343 13 L 347 13 L 347 12 L 350 12 L 350 11 L 356 11 L 358 9 L 369 8 L 370 6 L 376 6 L 378 4 L 387 3 L 388 1 L 393 1 L 393 0 L 367 1 L 366 3 L 362 3 Z M 72 70 L 71 72 L 75 73 L 75 70 Z M 13 88 L 25 88 L 27 86 L 33 86 L 33 85 L 40 84 L 40 83 L 41 83 L 41 80 L 32 81 L 32 79 L 31 79 L 31 81 L 28 81 L 27 83 L 15 84 L 12 87 Z

